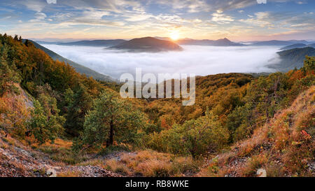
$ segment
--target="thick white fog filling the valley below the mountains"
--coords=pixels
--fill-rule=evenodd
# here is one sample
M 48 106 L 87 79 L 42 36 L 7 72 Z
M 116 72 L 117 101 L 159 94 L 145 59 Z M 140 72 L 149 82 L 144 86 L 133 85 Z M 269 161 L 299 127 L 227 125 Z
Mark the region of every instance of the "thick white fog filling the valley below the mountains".
M 122 73 L 216 73 L 272 72 L 268 64 L 279 62 L 279 47 L 214 47 L 183 45 L 181 52 L 133 53 L 105 48 L 67 45 L 43 45 L 62 57 L 113 78 Z

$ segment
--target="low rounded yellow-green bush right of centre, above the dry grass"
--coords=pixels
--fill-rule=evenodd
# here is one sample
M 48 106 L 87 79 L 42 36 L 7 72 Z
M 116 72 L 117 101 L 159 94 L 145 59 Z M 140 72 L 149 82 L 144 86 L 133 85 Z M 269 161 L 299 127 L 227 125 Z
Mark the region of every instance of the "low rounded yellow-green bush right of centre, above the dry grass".
M 190 120 L 183 125 L 174 125 L 172 129 L 160 134 L 152 134 L 148 146 L 174 154 L 191 154 L 194 157 L 207 151 L 213 152 L 228 143 L 229 132 L 218 121 L 218 116 L 207 111 L 197 120 Z

